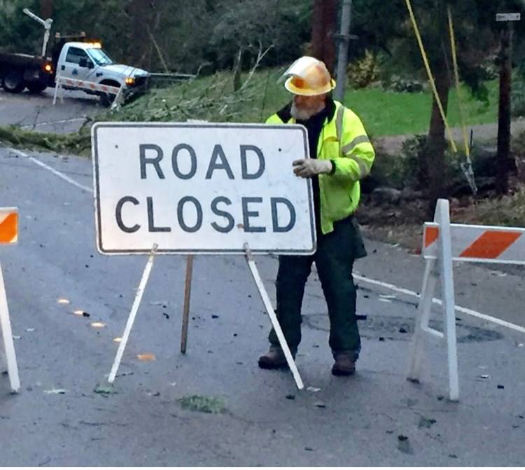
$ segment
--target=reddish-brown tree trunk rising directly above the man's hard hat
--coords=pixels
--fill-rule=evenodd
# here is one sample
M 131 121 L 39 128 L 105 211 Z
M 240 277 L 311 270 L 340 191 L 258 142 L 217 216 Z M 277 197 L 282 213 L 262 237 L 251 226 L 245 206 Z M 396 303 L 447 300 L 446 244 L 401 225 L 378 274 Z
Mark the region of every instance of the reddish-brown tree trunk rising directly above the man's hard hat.
M 322 60 L 330 74 L 335 67 L 334 34 L 337 28 L 337 1 L 314 0 L 312 15 L 311 51 L 318 60 Z

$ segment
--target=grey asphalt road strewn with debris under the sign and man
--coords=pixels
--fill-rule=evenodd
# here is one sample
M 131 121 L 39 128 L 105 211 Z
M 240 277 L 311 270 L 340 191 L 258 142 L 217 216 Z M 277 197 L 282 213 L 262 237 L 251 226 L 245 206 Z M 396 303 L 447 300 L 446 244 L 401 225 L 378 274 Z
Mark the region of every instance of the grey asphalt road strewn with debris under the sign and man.
M 45 96 L 0 99 L 1 119 L 10 123 L 34 122 L 38 109 L 52 120 L 96 111 L 73 97 L 73 109 L 51 109 Z M 451 403 L 443 398 L 442 345 L 428 347 L 421 385 L 405 380 L 417 299 L 386 286 L 418 292 L 423 261 L 370 240 L 370 255 L 356 264 L 358 310 L 367 320 L 354 377 L 330 374 L 315 272 L 297 357 L 313 388 L 299 392 L 290 373 L 258 369 L 269 319 L 241 256 L 195 259 L 188 353 L 181 354 L 185 258 L 160 256 L 117 393 L 94 392 L 107 380 L 146 257 L 97 254 L 91 187 L 86 158 L 0 148 L 0 206 L 20 211 L 20 243 L 0 247 L 0 262 L 22 381 L 13 395 L 0 376 L 2 466 L 524 465 L 523 273 L 456 266 L 456 303 L 516 326 L 457 312 L 461 401 Z M 276 260 L 257 263 L 274 300 Z M 437 310 L 433 317 L 440 326 Z M 225 410 L 184 409 L 179 400 L 194 394 L 221 399 Z

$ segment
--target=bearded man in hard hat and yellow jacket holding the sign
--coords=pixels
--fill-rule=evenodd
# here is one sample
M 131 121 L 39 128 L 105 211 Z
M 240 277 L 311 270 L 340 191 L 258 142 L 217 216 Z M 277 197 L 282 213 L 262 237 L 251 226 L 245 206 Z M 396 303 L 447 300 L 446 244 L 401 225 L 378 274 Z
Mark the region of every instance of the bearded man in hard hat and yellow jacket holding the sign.
M 356 114 L 332 99 L 335 81 L 323 62 L 301 57 L 285 76 L 284 86 L 293 93 L 293 102 L 267 123 L 297 123 L 308 130 L 311 158 L 293 162 L 293 172 L 312 179 L 317 251 L 313 256 L 279 257 L 276 313 L 295 357 L 304 286 L 315 261 L 330 317 L 332 373 L 351 375 L 360 352 L 352 268 L 354 260 L 366 256 L 353 212 L 360 198 L 359 180 L 370 173 L 374 149 Z M 273 329 L 269 343 L 269 352 L 259 358 L 260 368 L 285 368 L 286 358 Z

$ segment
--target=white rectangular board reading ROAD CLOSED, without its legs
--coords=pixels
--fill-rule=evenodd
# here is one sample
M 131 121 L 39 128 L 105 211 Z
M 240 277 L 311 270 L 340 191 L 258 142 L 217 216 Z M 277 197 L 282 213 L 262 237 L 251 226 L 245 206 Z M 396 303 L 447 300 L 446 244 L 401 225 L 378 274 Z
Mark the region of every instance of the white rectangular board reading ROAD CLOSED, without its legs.
M 102 254 L 312 254 L 311 180 L 300 125 L 97 123 L 92 127 Z

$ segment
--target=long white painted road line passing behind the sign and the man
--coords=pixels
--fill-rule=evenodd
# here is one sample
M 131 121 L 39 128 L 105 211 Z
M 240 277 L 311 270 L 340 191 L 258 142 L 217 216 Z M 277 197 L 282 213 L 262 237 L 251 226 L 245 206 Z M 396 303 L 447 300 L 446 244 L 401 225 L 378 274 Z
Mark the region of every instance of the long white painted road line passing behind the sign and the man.
M 76 186 L 77 188 L 80 188 L 83 191 L 87 191 L 88 193 L 93 192 L 92 188 L 88 188 L 87 186 L 83 186 L 82 184 L 77 183 L 73 179 L 66 177 L 65 174 L 58 172 L 57 170 L 54 170 L 52 167 L 48 165 L 45 165 L 45 163 L 42 163 L 40 160 L 37 160 L 34 157 L 30 157 L 29 155 L 27 155 L 27 153 L 15 150 L 15 148 L 9 148 L 9 150 L 12 152 L 18 153 L 18 155 L 21 155 L 22 157 L 29 158 L 29 160 L 36 163 L 36 165 L 39 165 L 43 167 L 45 170 L 52 172 L 52 174 L 55 174 L 57 177 L 62 178 L 64 181 L 67 181 L 69 184 L 72 184 L 73 186 Z M 410 291 L 409 289 L 403 289 L 402 287 L 395 286 L 394 284 L 388 284 L 388 282 L 377 281 L 376 279 L 370 279 L 370 277 L 358 275 L 355 273 L 353 277 L 360 281 L 367 282 L 368 284 L 374 284 L 376 286 L 381 286 L 386 289 L 390 289 L 391 291 L 394 291 L 394 292 L 404 293 L 407 296 L 419 298 L 419 293 Z M 441 305 L 441 300 L 438 298 L 433 298 L 432 301 L 433 303 L 437 303 L 438 305 Z M 514 331 L 519 331 L 520 333 L 525 333 L 525 328 L 523 326 L 515 325 L 510 322 L 505 322 L 505 320 L 502 320 L 496 317 L 491 317 L 490 315 L 485 315 L 484 313 L 476 312 L 475 310 L 471 310 L 470 308 L 465 308 L 465 307 L 456 305 L 456 310 L 458 312 L 465 313 L 467 315 L 471 315 L 472 317 L 483 319 L 483 320 L 486 320 L 487 322 L 492 322 L 500 326 L 505 326 L 506 328 L 510 328 Z

